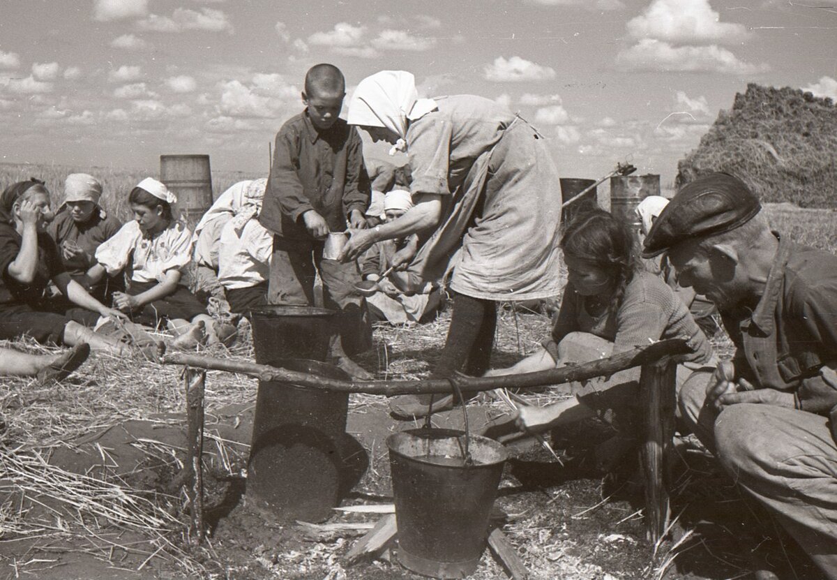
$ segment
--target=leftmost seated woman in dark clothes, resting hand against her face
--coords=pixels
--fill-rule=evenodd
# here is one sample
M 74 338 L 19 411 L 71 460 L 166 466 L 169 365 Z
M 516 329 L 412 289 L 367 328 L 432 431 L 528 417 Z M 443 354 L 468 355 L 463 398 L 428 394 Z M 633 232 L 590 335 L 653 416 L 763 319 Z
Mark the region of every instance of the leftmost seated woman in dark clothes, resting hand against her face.
M 124 317 L 69 276 L 59 247 L 47 233 L 52 217 L 43 181 L 20 181 L 0 195 L 0 339 L 28 334 L 42 344 L 86 342 L 97 350 L 130 355 L 130 347 L 86 328 L 70 313 L 53 311 L 46 295 L 50 281 L 79 307 L 72 314 L 82 323 L 95 324 L 100 316 Z

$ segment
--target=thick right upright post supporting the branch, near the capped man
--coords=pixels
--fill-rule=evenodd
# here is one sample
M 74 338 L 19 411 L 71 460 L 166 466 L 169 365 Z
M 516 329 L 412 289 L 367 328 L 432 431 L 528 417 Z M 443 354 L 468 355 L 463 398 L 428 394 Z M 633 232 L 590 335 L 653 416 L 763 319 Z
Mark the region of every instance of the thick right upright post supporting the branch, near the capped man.
M 671 516 L 671 441 L 675 432 L 675 361 L 668 358 L 644 365 L 639 375 L 644 441 L 639 456 L 645 484 L 645 533 L 656 544 L 668 530 Z

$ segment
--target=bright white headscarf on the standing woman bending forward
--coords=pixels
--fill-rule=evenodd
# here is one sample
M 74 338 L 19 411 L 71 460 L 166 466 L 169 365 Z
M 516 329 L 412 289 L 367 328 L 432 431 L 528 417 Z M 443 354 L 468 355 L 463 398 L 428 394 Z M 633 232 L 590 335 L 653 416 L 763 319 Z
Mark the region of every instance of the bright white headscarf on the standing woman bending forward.
M 407 137 L 408 121 L 424 117 L 436 108 L 433 99 L 419 99 L 413 73 L 382 70 L 358 83 L 349 101 L 348 123 L 385 127 Z

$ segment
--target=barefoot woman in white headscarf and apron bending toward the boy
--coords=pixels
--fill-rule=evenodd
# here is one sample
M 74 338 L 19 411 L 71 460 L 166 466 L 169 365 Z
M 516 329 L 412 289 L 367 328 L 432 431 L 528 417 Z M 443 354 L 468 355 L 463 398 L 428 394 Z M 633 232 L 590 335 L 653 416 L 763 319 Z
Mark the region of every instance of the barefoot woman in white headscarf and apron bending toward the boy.
M 412 262 L 427 282 L 454 262 L 453 310 L 434 378 L 490 365 L 496 301 L 549 298 L 560 290 L 561 187 L 546 140 L 520 117 L 480 96 L 419 99 L 413 75 L 383 70 L 362 80 L 348 122 L 405 151 L 415 207 L 398 220 L 353 230 L 343 259 L 376 241 L 413 234 L 393 263 Z M 420 246 L 420 251 L 419 251 Z M 461 251 L 454 254 L 458 249 Z M 452 259 L 453 258 L 453 259 Z M 453 396 L 398 396 L 396 417 L 449 408 Z

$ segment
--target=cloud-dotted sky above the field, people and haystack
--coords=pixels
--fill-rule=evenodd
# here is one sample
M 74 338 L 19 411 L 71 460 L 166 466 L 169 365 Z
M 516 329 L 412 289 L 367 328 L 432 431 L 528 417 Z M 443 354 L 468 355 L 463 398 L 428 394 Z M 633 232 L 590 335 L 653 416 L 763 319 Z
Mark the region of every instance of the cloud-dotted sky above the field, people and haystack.
M 265 173 L 305 71 L 502 101 L 566 177 L 661 173 L 747 83 L 837 100 L 837 8 L 789 0 L 0 0 L 0 161 Z

